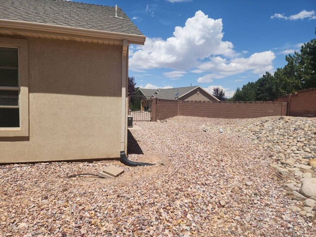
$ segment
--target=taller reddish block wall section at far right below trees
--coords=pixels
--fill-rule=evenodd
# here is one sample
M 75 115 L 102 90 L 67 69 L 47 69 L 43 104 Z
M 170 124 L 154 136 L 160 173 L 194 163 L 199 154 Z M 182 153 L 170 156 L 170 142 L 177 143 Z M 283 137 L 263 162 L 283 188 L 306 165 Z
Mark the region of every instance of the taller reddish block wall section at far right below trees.
M 316 117 L 316 88 L 299 90 L 291 95 L 290 116 Z

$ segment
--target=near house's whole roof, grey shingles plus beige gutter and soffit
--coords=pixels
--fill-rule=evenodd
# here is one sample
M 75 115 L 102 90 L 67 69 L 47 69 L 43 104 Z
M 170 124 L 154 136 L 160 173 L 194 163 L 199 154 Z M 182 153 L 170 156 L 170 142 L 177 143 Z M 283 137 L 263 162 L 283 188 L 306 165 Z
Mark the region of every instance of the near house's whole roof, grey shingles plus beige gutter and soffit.
M 143 45 L 121 8 L 65 0 L 0 0 L 0 34 L 98 44 Z

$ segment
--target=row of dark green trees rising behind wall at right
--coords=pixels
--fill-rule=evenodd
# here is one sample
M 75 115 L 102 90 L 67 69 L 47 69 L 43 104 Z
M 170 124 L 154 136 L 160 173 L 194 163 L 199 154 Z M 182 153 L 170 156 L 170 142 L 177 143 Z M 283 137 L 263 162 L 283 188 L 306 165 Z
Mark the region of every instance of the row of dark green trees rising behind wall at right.
M 266 72 L 254 83 L 238 87 L 233 101 L 273 101 L 278 96 L 316 87 L 316 39 L 305 43 L 300 52 L 285 56 L 287 64 L 272 75 Z

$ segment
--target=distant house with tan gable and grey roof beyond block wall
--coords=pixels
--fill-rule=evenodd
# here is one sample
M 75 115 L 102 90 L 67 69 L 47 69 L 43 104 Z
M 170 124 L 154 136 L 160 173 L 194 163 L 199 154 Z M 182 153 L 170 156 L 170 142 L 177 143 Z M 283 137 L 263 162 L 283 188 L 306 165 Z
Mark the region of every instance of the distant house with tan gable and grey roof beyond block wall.
M 170 89 L 144 89 L 140 88 L 142 95 L 165 100 L 180 101 L 219 101 L 216 97 L 200 86 L 177 87 Z

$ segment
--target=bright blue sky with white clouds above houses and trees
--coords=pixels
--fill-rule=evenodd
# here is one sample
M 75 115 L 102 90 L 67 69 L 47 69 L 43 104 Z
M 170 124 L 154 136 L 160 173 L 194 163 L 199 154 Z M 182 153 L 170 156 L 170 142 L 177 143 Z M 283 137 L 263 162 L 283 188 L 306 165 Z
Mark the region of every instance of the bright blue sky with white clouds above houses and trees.
M 316 38 L 315 0 L 76 0 L 117 4 L 146 35 L 131 45 L 137 86 L 234 90 Z

